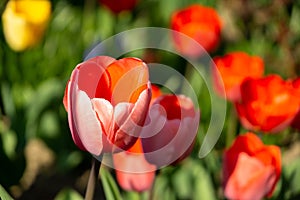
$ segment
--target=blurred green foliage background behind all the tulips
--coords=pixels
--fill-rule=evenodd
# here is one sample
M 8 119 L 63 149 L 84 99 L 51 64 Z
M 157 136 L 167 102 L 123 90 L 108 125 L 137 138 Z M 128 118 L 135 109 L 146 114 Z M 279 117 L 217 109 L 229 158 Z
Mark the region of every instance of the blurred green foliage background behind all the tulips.
M 1 0 L 2 15 L 7 1 Z M 97 0 L 52 0 L 51 15 L 41 40 L 15 51 L 0 26 L 0 194 L 15 199 L 81 199 L 91 166 L 91 155 L 73 143 L 62 104 L 74 67 L 102 40 L 137 27 L 170 27 L 172 13 L 193 3 L 213 7 L 224 23 L 221 43 L 211 57 L 240 50 L 265 61 L 265 74 L 295 78 L 300 73 L 300 1 L 293 0 L 139 0 L 130 11 L 113 13 Z M 186 63 L 162 51 L 138 52 L 146 62 L 166 63 L 185 74 Z M 192 81 L 191 81 L 192 82 Z M 202 130 L 210 119 L 207 91 L 199 93 Z M 230 106 L 229 106 L 230 107 Z M 229 114 L 228 114 L 229 115 Z M 198 158 L 199 144 L 176 167 L 157 172 L 158 199 L 224 199 L 222 151 L 232 127 L 230 116 L 213 151 Z M 241 128 L 242 130 L 242 128 Z M 265 135 L 267 144 L 283 152 L 283 173 L 271 199 L 300 198 L 300 140 L 295 130 Z M 126 192 L 104 169 L 108 188 L 124 199 L 146 199 Z M 110 172 L 110 173 L 108 173 Z M 97 199 L 105 199 L 97 186 Z M 106 187 L 106 188 L 107 188 Z M 6 191 L 6 192 L 5 192 Z M 106 194 L 107 195 L 107 194 Z M 113 198 L 114 199 L 114 198 Z

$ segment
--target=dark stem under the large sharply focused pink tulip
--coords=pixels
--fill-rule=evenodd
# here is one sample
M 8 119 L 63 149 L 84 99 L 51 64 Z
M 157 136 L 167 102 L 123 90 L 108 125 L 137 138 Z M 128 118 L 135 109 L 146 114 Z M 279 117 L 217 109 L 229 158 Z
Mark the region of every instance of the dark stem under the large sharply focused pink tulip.
M 89 180 L 87 183 L 86 193 L 85 193 L 85 200 L 92 200 L 94 197 L 95 185 L 98 180 L 100 166 L 101 166 L 101 162 L 96 160 L 93 157 L 92 168 L 91 168 Z

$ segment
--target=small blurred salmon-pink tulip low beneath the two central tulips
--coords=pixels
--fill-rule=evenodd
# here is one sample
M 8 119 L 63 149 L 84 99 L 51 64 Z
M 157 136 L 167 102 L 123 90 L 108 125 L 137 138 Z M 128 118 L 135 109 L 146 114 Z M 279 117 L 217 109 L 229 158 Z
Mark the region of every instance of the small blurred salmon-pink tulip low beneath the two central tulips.
M 141 139 L 128 151 L 113 154 L 113 161 L 117 181 L 124 190 L 143 192 L 151 189 L 156 167 L 146 161 Z

